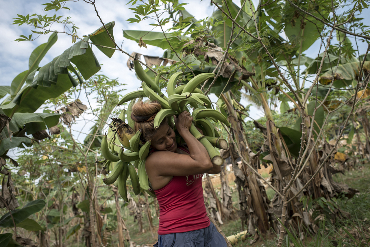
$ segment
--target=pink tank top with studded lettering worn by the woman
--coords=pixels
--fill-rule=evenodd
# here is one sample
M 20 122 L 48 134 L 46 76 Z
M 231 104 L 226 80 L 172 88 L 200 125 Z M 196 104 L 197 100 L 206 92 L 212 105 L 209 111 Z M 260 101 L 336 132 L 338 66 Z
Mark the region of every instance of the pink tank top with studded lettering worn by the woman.
M 174 176 L 163 188 L 154 190 L 159 203 L 158 234 L 183 233 L 209 226 L 202 177 L 203 174 Z

